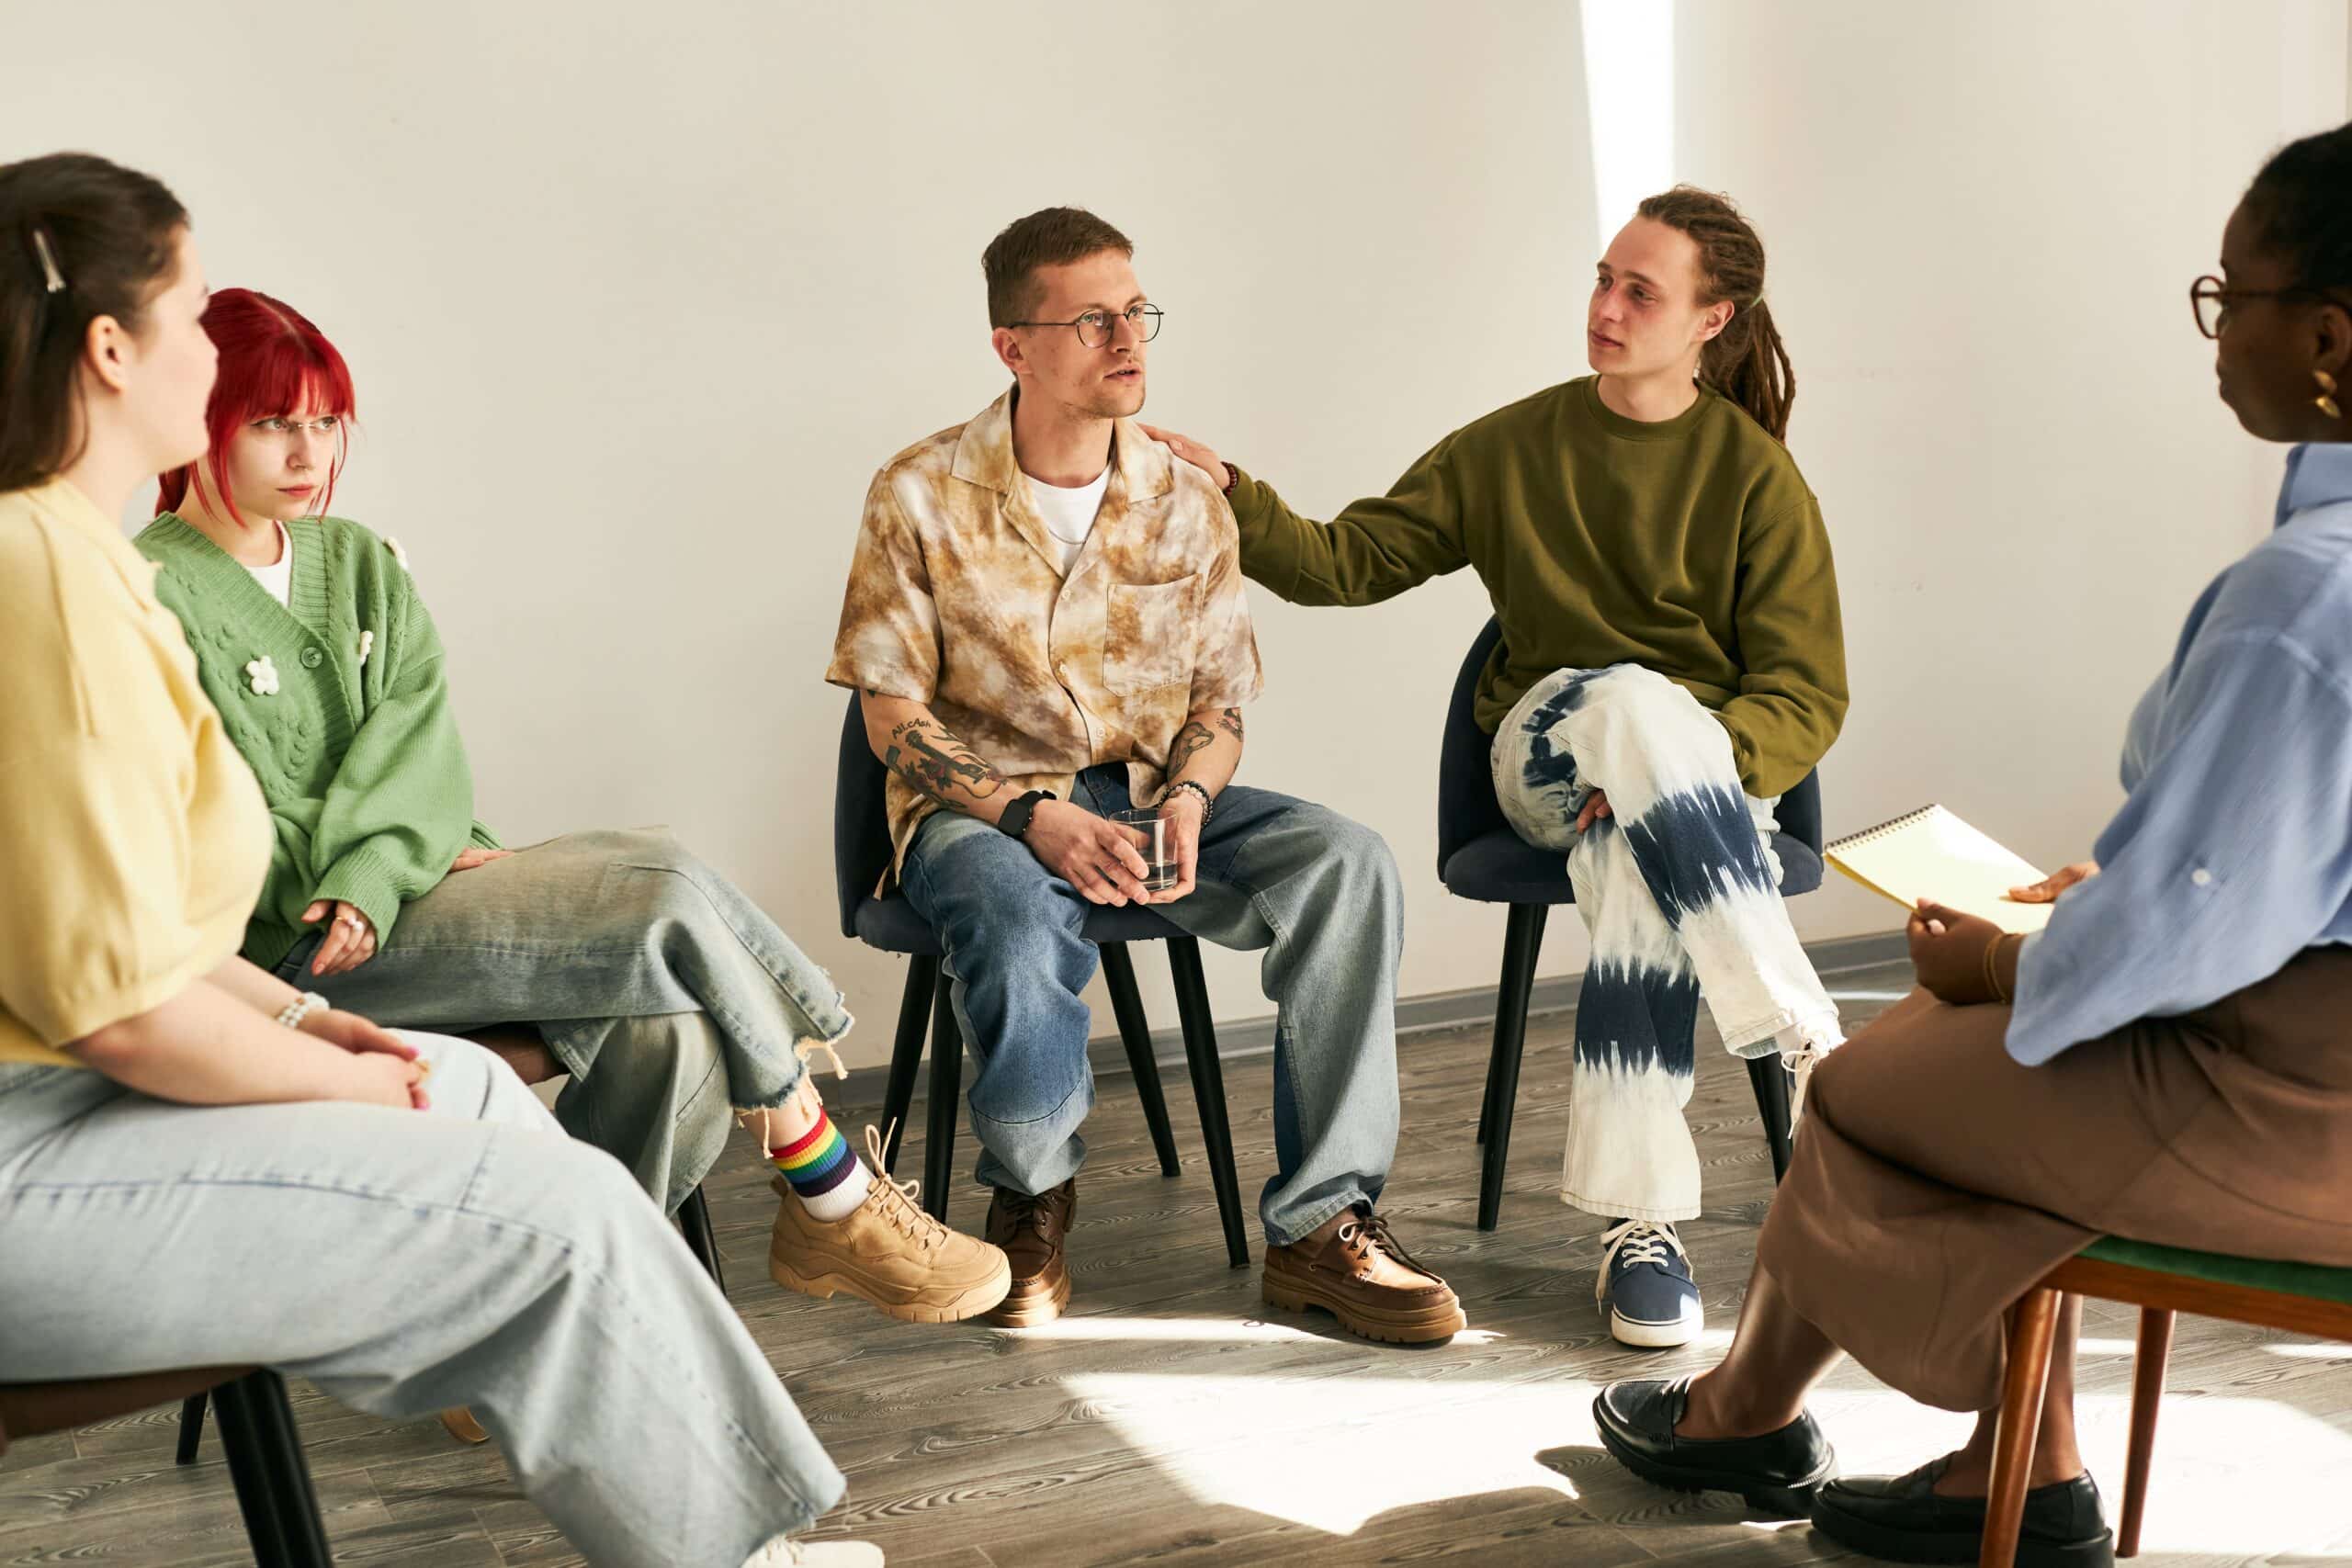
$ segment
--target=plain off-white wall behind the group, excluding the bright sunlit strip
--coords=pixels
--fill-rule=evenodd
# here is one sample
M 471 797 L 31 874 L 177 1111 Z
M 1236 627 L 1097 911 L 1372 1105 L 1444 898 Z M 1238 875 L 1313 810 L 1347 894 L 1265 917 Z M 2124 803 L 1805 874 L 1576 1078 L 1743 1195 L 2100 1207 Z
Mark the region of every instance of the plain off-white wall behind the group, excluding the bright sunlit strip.
M 2343 115 L 2343 5 L 1686 0 L 1675 40 L 1675 172 L 1773 247 L 1846 583 L 1832 827 L 1943 797 L 2077 853 L 2126 703 L 2260 524 L 2274 454 L 2211 402 L 2180 296 L 2258 155 Z M 339 510 L 412 552 L 485 818 L 673 823 L 835 969 L 854 1060 L 901 969 L 837 936 L 818 672 L 873 468 L 1000 388 L 997 226 L 1082 202 L 1127 228 L 1169 308 L 1148 414 L 1310 510 L 1583 371 L 1581 28 L 1545 0 L 85 0 L 16 7 L 9 47 L 45 63 L 12 73 L 5 155 L 162 174 L 214 284 L 348 353 Z M 1498 914 L 1430 865 L 1477 583 L 1256 607 L 1247 776 L 1390 837 L 1406 992 L 1491 985 Z M 1830 889 L 1799 924 L 1891 919 Z M 1545 971 L 1581 964 L 1555 922 Z M 1265 1011 L 1249 957 L 1211 985 Z

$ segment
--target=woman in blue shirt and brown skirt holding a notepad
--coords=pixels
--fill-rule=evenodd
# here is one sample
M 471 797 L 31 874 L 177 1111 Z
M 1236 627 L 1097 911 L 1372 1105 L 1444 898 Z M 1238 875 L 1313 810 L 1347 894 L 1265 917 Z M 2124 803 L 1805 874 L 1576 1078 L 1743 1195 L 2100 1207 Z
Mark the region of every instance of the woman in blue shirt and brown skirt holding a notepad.
M 2190 611 L 2124 745 L 2129 799 L 2046 931 L 1922 905 L 1919 990 L 1813 1074 L 1740 1331 L 1696 1380 L 1595 1401 L 1635 1474 L 1973 1563 L 2004 1312 L 2098 1234 L 2352 1267 L 2352 125 L 2284 148 L 2192 287 L 2220 397 L 2296 442 L 2277 529 Z M 2112 1561 L 2072 1328 L 2018 1563 Z M 1950 1410 L 1959 1453 L 1832 1481 L 1804 1410 L 1842 1354 Z

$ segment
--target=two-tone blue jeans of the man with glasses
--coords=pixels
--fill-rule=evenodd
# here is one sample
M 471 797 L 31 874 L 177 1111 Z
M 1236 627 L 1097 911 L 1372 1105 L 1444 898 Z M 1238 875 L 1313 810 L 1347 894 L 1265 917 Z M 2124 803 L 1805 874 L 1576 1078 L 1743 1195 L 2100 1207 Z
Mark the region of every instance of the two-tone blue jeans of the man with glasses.
M 1127 766 L 1080 773 L 1077 804 L 1127 811 Z M 1094 1107 L 1091 1013 L 1080 992 L 1094 907 L 1028 844 L 941 811 L 908 846 L 906 896 L 948 950 L 971 1079 L 978 1178 L 1044 1192 L 1077 1173 Z M 1371 1204 L 1397 1152 L 1397 863 L 1369 827 L 1270 790 L 1218 795 L 1195 889 L 1155 914 L 1218 947 L 1265 950 L 1275 1001 L 1275 1175 L 1258 1197 L 1268 1246 Z

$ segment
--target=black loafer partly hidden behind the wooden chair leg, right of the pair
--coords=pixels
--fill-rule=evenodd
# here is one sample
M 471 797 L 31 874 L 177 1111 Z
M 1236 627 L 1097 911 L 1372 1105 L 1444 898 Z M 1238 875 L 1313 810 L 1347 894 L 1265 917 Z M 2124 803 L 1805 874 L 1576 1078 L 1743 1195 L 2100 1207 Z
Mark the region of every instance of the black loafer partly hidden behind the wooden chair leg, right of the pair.
M 1842 1547 L 1889 1563 L 1973 1563 L 1985 1537 L 1983 1497 L 1938 1497 L 1950 1455 L 1907 1476 L 1830 1481 L 1813 1497 L 1813 1528 Z M 2025 1493 L 2018 1568 L 2112 1568 L 2114 1533 L 2098 1509 L 2098 1486 L 2074 1476 Z

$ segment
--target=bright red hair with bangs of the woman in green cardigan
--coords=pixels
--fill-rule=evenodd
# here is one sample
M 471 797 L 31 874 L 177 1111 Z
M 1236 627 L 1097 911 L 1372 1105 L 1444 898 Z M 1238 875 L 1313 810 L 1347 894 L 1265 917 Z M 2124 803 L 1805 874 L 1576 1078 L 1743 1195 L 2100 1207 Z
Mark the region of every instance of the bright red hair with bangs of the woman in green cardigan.
M 294 306 L 256 294 L 254 289 L 221 289 L 205 308 L 205 331 L 221 350 L 221 374 L 212 383 L 212 402 L 205 407 L 205 428 L 212 433 L 212 449 L 162 475 L 162 494 L 155 512 L 176 512 L 188 498 L 198 465 L 212 482 L 212 494 L 238 522 L 252 527 L 238 512 L 235 496 L 228 494 L 228 470 L 223 451 L 228 440 L 256 418 L 275 418 L 310 409 L 353 418 L 358 397 L 350 390 L 350 367 L 336 353 L 327 334 L 310 324 Z M 327 484 L 318 496 L 325 512 L 334 498 L 334 480 L 343 473 L 346 444 L 336 440 L 334 463 L 327 468 Z

